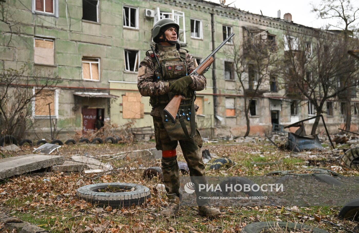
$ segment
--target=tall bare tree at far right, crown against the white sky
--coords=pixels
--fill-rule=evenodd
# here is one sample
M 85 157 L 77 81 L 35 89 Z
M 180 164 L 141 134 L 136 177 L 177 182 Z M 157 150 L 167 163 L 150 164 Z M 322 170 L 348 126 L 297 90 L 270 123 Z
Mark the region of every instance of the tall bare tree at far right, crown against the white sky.
M 318 13 L 322 19 L 330 19 L 328 24 L 331 28 L 340 29 L 344 35 L 342 46 L 345 50 L 353 49 L 348 47 L 350 36 L 359 33 L 358 14 L 359 7 L 353 6 L 350 0 L 322 0 L 319 6 L 313 5 L 313 11 Z M 343 59 L 348 59 L 344 57 Z M 343 81 L 345 83 L 345 81 Z M 351 124 L 351 96 L 343 96 L 346 101 L 345 129 L 350 130 Z

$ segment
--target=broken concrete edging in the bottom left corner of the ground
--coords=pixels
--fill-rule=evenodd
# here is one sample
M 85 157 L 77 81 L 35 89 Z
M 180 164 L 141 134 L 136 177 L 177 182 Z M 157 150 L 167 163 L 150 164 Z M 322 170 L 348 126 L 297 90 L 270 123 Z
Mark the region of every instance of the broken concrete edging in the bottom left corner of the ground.
M 24 222 L 19 218 L 9 217 L 5 213 L 0 212 L 0 222 L 5 224 L 5 228 L 12 232 L 14 229 L 18 233 L 42 233 L 48 232 L 45 229 L 42 229 L 31 223 Z

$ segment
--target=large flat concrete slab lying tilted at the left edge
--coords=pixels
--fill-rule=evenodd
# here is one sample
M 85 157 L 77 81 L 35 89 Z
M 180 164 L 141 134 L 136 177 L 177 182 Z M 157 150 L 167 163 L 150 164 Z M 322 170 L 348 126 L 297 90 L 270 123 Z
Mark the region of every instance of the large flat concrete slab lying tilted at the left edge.
M 53 165 L 63 164 L 64 156 L 60 155 L 20 155 L 0 159 L 0 178 L 5 179 L 14 175 L 20 175 L 29 171 L 48 168 Z

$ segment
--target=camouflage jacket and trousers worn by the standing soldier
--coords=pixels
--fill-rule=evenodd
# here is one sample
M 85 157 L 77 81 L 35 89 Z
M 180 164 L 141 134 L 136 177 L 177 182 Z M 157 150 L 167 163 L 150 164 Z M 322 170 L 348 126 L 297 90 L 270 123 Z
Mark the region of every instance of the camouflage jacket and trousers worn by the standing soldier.
M 161 61 L 165 58 L 180 58 L 180 52 L 176 49 L 176 45 L 165 47 L 158 45 L 159 51 L 157 52 L 158 59 Z M 180 51 L 183 50 L 180 49 Z M 185 61 L 187 65 L 188 74 L 190 74 L 197 66 L 196 59 L 188 53 L 186 50 Z M 137 86 L 142 96 L 150 96 L 151 99 L 158 96 L 172 96 L 173 93 L 169 93 L 169 85 L 176 79 L 170 79 L 169 81 L 156 81 L 156 63 L 150 56 L 145 57 L 141 63 L 137 77 Z M 203 75 L 191 76 L 193 83 L 189 87 L 193 91 L 201 91 L 206 87 L 207 81 Z M 166 80 L 166 77 L 164 77 Z M 165 98 L 164 98 L 165 99 Z M 168 101 L 167 101 L 168 102 Z M 151 103 L 151 101 L 150 101 Z M 157 150 L 162 150 L 162 172 L 164 178 L 164 185 L 168 194 L 176 194 L 180 196 L 179 188 L 179 170 L 177 164 L 176 147 L 178 141 L 171 141 L 168 136 L 168 132 L 165 130 L 160 111 L 167 105 L 166 101 L 154 105 L 151 111 L 153 117 L 155 139 Z M 182 128 L 180 129 L 182 130 Z M 205 165 L 202 161 L 202 138 L 196 125 L 196 136 L 190 140 L 180 140 L 180 146 L 183 152 L 183 156 L 187 161 L 188 168 L 190 169 L 190 176 L 202 176 L 201 183 L 206 183 L 205 178 Z M 192 180 L 192 178 L 191 178 Z M 192 180 L 194 182 L 194 180 Z M 198 179 L 195 184 L 198 182 Z M 196 193 L 197 194 L 197 193 Z M 198 196 L 198 194 L 197 194 Z M 202 195 L 203 196 L 203 195 Z M 197 204 L 199 206 L 207 204 L 207 201 L 197 198 Z

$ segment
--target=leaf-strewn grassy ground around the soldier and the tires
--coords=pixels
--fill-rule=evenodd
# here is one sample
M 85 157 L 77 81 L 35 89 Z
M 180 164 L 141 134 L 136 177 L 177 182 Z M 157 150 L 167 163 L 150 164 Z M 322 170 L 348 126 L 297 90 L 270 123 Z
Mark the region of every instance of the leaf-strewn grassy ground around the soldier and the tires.
M 153 148 L 153 141 L 138 142 L 133 145 L 88 145 L 76 144 L 62 146 L 59 154 L 66 157 L 72 155 L 116 154 L 123 151 Z M 179 148 L 179 146 L 178 146 Z M 16 153 L 6 152 L 2 157 L 31 154 L 32 148 L 23 146 Z M 204 144 L 202 150 L 208 149 L 218 157 L 228 157 L 236 162 L 230 168 L 210 170 L 210 162 L 206 164 L 207 176 L 261 176 L 275 170 L 297 170 L 305 172 L 308 168 L 327 168 L 337 166 L 331 154 L 319 152 L 320 156 L 309 159 L 310 153 L 304 156 L 288 157 L 288 151 L 280 151 L 269 142 L 252 144 L 231 144 L 226 141 Z M 54 151 L 52 154 L 57 154 Z M 315 154 L 315 153 L 314 153 Z M 306 157 L 306 155 L 308 155 Z M 297 155 L 298 156 L 298 155 Z M 103 157 L 101 157 L 103 158 Z M 108 158 L 108 157 L 106 157 Z M 178 153 L 178 160 L 185 161 Z M 257 166 L 251 162 L 272 162 L 282 160 L 279 164 Z M 309 162 L 308 162 L 309 161 Z M 121 160 L 103 160 L 110 162 L 114 168 L 123 167 L 108 175 L 99 176 L 96 173 L 83 174 L 53 173 L 46 170 L 28 173 L 6 180 L 0 180 L 0 209 L 8 215 L 16 216 L 24 221 L 38 225 L 51 232 L 240 232 L 252 222 L 289 221 L 312 225 L 328 232 L 348 232 L 333 224 L 312 218 L 318 216 L 322 220 L 333 222 L 339 226 L 358 232 L 358 223 L 337 218 L 340 207 L 219 207 L 222 216 L 208 219 L 197 214 L 195 207 L 181 207 L 180 212 L 172 218 L 162 218 L 160 211 L 165 207 L 165 194 L 159 193 L 155 186 L 161 183 L 156 177 L 152 180 L 142 178 L 141 167 L 160 166 L 160 160 L 148 161 L 145 158 L 137 160 L 128 157 Z M 132 170 L 129 167 L 132 167 Z M 135 167 L 135 169 L 133 169 Z M 359 176 L 355 170 L 336 169 L 337 173 L 345 176 Z M 100 174 L 101 175 L 101 174 Z M 49 181 L 48 181 L 49 180 Z M 151 198 L 142 206 L 112 209 L 99 207 L 75 196 L 83 180 L 85 184 L 102 182 L 126 182 L 145 185 L 151 190 Z M 293 211 L 287 210 L 291 209 Z M 0 229 L 2 226 L 0 225 Z M 6 232 L 3 229 L 3 232 Z M 280 231 L 279 231 L 280 232 Z

